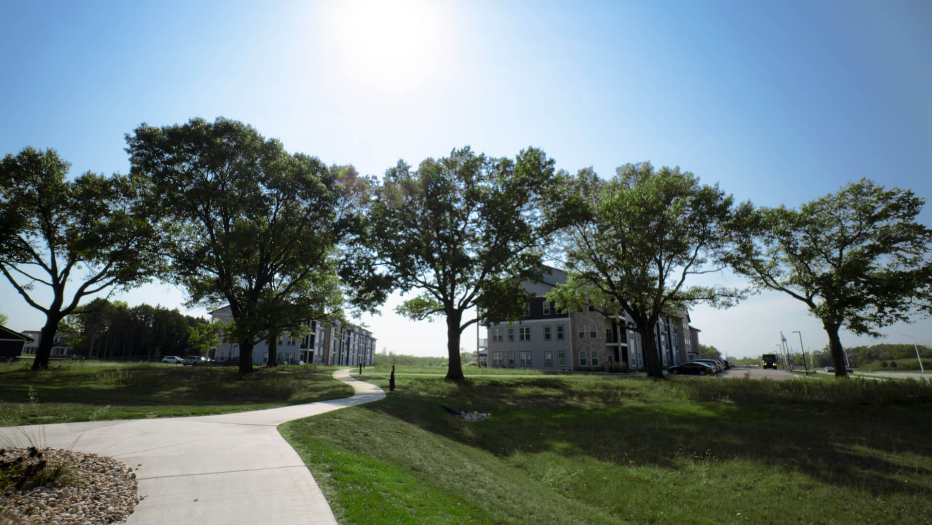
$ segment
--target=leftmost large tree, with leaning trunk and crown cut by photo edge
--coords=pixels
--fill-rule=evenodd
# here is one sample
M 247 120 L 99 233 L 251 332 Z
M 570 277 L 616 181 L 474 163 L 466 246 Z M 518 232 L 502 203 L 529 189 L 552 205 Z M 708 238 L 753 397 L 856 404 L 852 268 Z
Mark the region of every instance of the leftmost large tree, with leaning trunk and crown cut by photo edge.
M 69 167 L 32 147 L 0 162 L 0 272 L 46 315 L 34 368 L 48 367 L 59 323 L 84 297 L 144 283 L 160 262 L 147 181 L 90 172 L 67 180 Z M 40 304 L 37 285 L 50 301 Z

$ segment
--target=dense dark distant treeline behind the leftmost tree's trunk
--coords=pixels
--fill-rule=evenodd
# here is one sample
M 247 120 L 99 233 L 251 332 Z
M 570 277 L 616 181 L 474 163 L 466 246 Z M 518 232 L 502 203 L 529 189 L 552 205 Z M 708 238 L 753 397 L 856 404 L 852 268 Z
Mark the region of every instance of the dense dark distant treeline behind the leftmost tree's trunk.
M 90 359 L 158 360 L 191 353 L 188 328 L 206 324 L 178 310 L 96 298 L 67 317 L 59 337 Z

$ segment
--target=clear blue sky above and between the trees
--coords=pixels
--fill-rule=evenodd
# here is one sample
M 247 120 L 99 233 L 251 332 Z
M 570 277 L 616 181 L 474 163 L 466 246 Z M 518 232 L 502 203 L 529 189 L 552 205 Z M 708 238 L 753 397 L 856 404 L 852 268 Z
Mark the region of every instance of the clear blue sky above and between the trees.
M 930 199 L 930 26 L 923 1 L 5 2 L 0 154 L 53 147 L 73 174 L 125 173 L 140 123 L 223 116 L 379 175 L 462 145 L 535 145 L 571 172 L 678 165 L 761 205 L 861 177 Z M 158 283 L 118 298 L 185 300 Z M 15 329 L 44 321 L 6 283 L 0 311 Z M 780 330 L 828 342 L 775 293 L 692 319 L 735 356 L 773 350 Z M 391 305 L 363 321 L 379 349 L 445 353 L 443 323 Z M 885 332 L 932 341 L 932 321 Z

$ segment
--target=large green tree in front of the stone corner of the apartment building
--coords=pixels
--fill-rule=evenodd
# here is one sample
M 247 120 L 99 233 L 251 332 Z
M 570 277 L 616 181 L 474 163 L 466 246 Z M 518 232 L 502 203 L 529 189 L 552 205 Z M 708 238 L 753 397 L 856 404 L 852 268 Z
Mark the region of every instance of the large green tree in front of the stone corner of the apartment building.
M 692 173 L 648 162 L 625 164 L 610 180 L 583 170 L 565 191 L 575 209 L 564 238 L 569 279 L 548 297 L 564 310 L 588 303 L 626 313 L 641 336 L 648 375 L 663 378 L 654 332 L 660 316 L 741 297 L 738 290 L 687 285 L 693 275 L 721 269 L 716 255 L 732 198 Z

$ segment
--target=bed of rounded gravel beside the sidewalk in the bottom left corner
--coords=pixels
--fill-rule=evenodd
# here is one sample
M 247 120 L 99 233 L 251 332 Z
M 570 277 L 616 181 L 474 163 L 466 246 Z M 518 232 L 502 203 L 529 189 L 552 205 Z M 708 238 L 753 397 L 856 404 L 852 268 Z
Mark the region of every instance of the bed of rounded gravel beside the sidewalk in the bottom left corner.
M 41 463 L 45 462 L 45 463 Z M 65 465 L 51 483 L 0 494 L 0 525 L 99 525 L 122 523 L 142 499 L 132 467 L 113 458 L 72 450 L 0 449 L 0 481 L 12 471 Z M 142 466 L 142 465 L 137 465 Z M 8 481 L 8 479 L 7 479 Z

